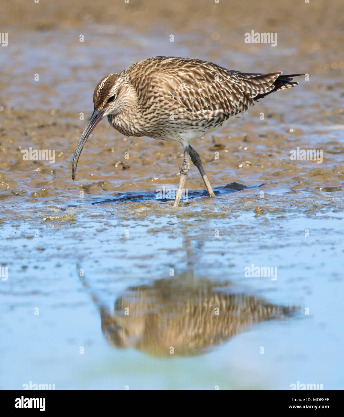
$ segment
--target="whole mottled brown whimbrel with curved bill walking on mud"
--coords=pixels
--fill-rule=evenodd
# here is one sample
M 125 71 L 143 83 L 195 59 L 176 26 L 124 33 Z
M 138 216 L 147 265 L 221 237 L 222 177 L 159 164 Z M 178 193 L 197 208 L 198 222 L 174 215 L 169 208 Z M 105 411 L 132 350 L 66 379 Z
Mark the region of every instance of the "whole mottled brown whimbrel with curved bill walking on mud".
M 210 197 L 215 197 L 198 153 L 190 140 L 218 130 L 266 95 L 297 85 L 292 77 L 243 73 L 191 58 L 157 56 L 106 75 L 93 93 L 94 112 L 76 147 L 72 178 L 90 133 L 107 116 L 125 136 L 149 136 L 180 142 L 184 158 L 174 207 L 179 206 L 191 161 L 200 171 Z

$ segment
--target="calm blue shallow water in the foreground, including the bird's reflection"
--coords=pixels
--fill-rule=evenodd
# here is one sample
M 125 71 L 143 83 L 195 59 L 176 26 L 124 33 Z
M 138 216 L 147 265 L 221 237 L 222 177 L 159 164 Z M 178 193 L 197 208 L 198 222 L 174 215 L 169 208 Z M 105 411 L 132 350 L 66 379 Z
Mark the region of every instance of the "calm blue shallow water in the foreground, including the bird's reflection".
M 2 226 L 5 387 L 340 386 L 342 214 L 120 217 L 100 206 L 40 207 L 40 222 Z M 277 274 L 248 276 L 253 266 Z

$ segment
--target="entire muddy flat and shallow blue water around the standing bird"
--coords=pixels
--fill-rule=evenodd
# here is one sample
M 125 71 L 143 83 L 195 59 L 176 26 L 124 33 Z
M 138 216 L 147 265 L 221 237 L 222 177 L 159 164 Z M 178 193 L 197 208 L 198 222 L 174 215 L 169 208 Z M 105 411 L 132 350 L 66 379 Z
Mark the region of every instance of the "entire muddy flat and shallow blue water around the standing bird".
M 265 15 L 241 5 L 240 19 L 201 2 L 192 21 L 187 5 L 172 13 L 152 2 L 112 23 L 91 3 L 79 19 L 56 3 L 25 22 L 6 9 L 1 29 L 0 387 L 343 388 L 339 2 L 274 4 Z M 261 28 L 278 33 L 276 48 L 243 42 Z M 192 143 L 214 200 L 195 167 L 180 208 L 157 198 L 177 186 L 182 149 L 123 137 L 106 121 L 73 182 L 94 86 L 154 55 L 309 80 Z M 54 150 L 54 163 L 24 160 L 30 147 Z M 321 150 L 321 163 L 292 161 L 298 147 Z M 251 265 L 276 274 L 248 276 Z

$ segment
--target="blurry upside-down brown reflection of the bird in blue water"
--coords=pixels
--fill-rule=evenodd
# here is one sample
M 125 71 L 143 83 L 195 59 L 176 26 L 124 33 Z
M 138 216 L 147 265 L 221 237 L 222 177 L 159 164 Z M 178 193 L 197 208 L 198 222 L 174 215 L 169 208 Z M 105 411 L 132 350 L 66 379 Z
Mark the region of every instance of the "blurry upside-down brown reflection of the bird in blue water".
M 154 356 L 198 355 L 255 323 L 283 319 L 295 311 L 295 307 L 278 306 L 240 292 L 228 281 L 195 277 L 195 256 L 189 240 L 184 241 L 184 249 L 187 271 L 149 285 L 129 287 L 116 299 L 113 311 L 81 277 L 101 315 L 102 332 L 112 346 L 134 347 Z

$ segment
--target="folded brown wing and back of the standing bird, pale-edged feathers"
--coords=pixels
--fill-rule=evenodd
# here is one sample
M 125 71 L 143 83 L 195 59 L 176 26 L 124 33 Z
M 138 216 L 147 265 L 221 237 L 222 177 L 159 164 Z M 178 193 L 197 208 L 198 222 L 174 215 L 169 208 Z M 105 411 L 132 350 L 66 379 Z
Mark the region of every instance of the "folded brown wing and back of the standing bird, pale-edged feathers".
M 206 118 L 220 114 L 228 118 L 247 111 L 257 95 L 273 90 L 281 74 L 245 74 L 202 60 L 174 57 L 150 58 L 124 73 L 129 74 L 143 106 Z

